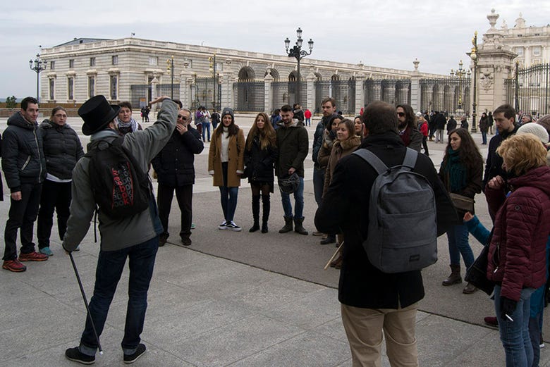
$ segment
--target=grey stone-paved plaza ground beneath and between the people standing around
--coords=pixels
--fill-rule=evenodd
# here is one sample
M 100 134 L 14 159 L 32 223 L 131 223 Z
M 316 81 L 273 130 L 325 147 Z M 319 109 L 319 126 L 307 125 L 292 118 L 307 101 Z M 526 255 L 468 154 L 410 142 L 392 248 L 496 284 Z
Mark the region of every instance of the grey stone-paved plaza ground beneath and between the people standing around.
M 245 134 L 254 116 L 236 116 Z M 42 118 L 40 119 L 42 120 Z M 153 119 L 152 119 L 153 120 Z M 310 147 L 314 127 L 311 127 Z M 80 120 L 70 118 L 82 144 L 88 137 Z M 146 127 L 149 124 L 144 124 Z M 0 131 L 6 119 L 0 120 Z M 481 142 L 481 135 L 475 134 Z M 439 168 L 445 144 L 429 142 L 430 157 Z M 486 146 L 480 146 L 486 147 Z M 178 241 L 179 211 L 173 200 L 169 242 L 159 248 L 149 290 L 149 308 L 142 342 L 147 353 L 135 366 L 351 366 L 350 351 L 337 299 L 338 271 L 323 270 L 333 245 L 319 245 L 319 237 L 294 232 L 279 234 L 283 225 L 281 196 L 271 197 L 269 233 L 249 233 L 252 225 L 250 187 L 239 190 L 236 223 L 243 232 L 221 231 L 219 191 L 207 174 L 209 144 L 195 161 L 197 180 L 193 197 L 190 247 Z M 482 155 L 487 156 L 486 148 Z M 306 158 L 305 222 L 314 230 L 316 209 L 312 187 L 311 151 Z M 489 225 L 484 197 L 476 209 Z M 4 230 L 9 190 L 4 182 L 0 225 Z M 411 223 L 413 224 L 413 223 Z M 56 225 L 54 223 L 54 228 Z M 0 367 L 78 366 L 63 356 L 80 340 L 85 306 L 71 262 L 52 231 L 54 256 L 42 263 L 26 263 L 25 273 L 0 271 Z M 482 246 L 470 237 L 475 254 Z M 92 226 L 80 251 L 73 253 L 87 296 L 91 297 L 99 244 Z M 426 297 L 417 315 L 420 366 L 504 366 L 498 331 L 483 325 L 493 313 L 492 301 L 482 292 L 462 294 L 463 285 L 442 287 L 449 273 L 446 237 L 439 238 L 439 261 L 423 270 Z M 102 335 L 104 355 L 96 366 L 122 366 L 120 342 L 126 313 L 128 272 L 119 284 Z M 544 335 L 550 340 L 545 312 Z M 382 366 L 389 366 L 384 356 Z M 550 366 L 550 344 L 541 351 L 540 366 Z

